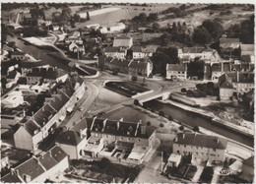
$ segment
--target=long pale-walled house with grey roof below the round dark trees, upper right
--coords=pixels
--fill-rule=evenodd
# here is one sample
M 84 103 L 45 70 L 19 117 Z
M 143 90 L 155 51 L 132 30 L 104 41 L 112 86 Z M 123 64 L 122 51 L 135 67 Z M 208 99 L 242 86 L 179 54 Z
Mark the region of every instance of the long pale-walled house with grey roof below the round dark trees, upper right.
M 178 58 L 182 63 L 189 63 L 190 61 L 199 58 L 206 62 L 211 61 L 214 51 L 205 47 L 183 47 L 178 49 Z

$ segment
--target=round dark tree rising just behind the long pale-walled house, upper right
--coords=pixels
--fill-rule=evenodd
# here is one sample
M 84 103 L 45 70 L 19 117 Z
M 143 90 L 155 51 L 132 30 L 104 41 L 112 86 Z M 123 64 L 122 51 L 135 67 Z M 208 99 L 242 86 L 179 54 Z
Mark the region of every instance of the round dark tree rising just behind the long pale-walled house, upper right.
M 197 28 L 193 34 L 193 41 L 199 44 L 208 44 L 212 41 L 212 36 L 204 28 Z

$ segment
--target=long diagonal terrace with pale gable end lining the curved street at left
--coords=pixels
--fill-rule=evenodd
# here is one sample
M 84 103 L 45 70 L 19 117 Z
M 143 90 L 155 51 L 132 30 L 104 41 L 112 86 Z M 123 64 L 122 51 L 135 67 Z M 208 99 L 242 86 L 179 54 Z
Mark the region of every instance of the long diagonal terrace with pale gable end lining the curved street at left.
M 72 110 L 84 96 L 83 79 L 73 76 L 60 88 L 45 98 L 43 106 L 32 117 L 25 117 L 25 123 L 14 134 L 17 149 L 36 151 L 40 143 L 65 119 L 67 111 Z

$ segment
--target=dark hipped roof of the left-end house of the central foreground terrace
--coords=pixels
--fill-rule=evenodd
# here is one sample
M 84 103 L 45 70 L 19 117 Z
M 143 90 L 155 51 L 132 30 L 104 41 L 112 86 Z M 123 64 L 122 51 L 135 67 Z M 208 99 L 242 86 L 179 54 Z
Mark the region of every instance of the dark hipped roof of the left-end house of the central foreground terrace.
M 77 131 L 67 130 L 57 139 L 57 143 L 78 146 L 82 140 Z

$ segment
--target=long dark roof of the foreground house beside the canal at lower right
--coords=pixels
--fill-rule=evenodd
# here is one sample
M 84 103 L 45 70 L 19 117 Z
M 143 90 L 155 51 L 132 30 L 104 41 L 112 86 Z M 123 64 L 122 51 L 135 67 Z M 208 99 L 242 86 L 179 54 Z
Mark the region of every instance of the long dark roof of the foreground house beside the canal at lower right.
M 227 141 L 217 136 L 208 136 L 204 134 L 181 133 L 177 135 L 177 144 L 192 145 L 211 149 L 225 150 Z

